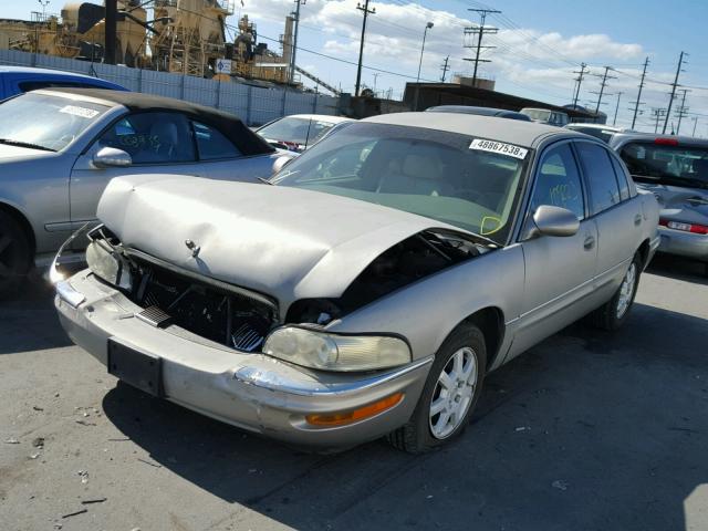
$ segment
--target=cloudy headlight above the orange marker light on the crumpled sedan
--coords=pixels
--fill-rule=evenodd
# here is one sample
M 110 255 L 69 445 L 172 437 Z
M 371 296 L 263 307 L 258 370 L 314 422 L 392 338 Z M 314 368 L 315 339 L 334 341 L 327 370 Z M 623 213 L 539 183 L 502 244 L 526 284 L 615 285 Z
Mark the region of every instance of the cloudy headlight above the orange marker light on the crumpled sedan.
M 323 371 L 372 371 L 410 363 L 410 348 L 385 335 L 339 335 L 298 326 L 274 330 L 263 353 L 305 367 Z

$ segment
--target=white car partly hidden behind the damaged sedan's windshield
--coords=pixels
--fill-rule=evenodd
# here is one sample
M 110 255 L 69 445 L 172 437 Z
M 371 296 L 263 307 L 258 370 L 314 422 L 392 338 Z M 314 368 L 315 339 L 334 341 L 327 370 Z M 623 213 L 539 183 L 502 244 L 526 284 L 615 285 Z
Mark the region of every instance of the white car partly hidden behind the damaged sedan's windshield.
M 256 129 L 256 133 L 273 147 L 302 153 L 344 122 L 354 119 L 326 114 L 293 114 L 273 119 Z

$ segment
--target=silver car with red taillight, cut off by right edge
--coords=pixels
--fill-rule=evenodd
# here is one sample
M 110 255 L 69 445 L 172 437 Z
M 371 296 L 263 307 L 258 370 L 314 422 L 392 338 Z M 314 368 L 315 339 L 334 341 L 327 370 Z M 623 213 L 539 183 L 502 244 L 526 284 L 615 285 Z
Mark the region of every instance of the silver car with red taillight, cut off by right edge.
M 659 251 L 699 260 L 708 274 L 708 140 L 622 133 L 611 146 L 659 201 Z

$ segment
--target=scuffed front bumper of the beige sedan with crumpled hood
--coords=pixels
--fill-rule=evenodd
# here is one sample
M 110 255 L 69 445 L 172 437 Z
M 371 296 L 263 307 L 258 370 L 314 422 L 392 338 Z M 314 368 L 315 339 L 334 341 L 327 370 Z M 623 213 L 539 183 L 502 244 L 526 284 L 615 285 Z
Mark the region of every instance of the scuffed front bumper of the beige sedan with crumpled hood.
M 394 371 L 333 374 L 302 369 L 262 354 L 231 350 L 134 315 L 142 311 L 84 270 L 58 289 L 55 305 L 69 336 L 104 365 L 108 339 L 162 358 L 165 398 L 209 417 L 320 450 L 376 439 L 404 425 L 423 391 L 433 356 Z M 337 427 L 312 426 L 309 414 L 334 414 L 395 393 L 404 398 L 376 416 Z

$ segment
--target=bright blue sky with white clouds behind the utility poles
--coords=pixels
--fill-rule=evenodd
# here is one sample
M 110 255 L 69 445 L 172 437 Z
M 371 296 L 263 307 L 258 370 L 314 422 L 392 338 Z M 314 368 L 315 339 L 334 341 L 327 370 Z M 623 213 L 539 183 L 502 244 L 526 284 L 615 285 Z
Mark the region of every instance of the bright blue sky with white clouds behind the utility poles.
M 54 0 L 48 12 L 59 12 L 63 1 Z M 29 18 L 41 11 L 39 0 L 2 0 L 0 18 Z M 360 0 L 361 3 L 364 0 Z M 260 42 L 280 51 L 285 15 L 293 0 L 236 0 L 229 17 L 231 37 L 241 14 L 258 27 Z M 357 0 L 306 0 L 301 8 L 298 65 L 345 92 L 354 91 L 362 31 Z M 464 28 L 479 23 L 469 9 L 494 9 L 486 25 L 498 28 L 485 35 L 482 53 L 490 62 L 479 74 L 493 79 L 497 90 L 543 102 L 571 103 L 575 85 L 573 71 L 581 62 L 590 66 L 581 87 L 580 103 L 595 108 L 604 66 L 611 66 L 601 110 L 613 123 L 629 126 L 637 96 L 642 64 L 649 58 L 647 84 L 642 94 L 636 128 L 654 131 L 653 108 L 666 107 L 669 84 L 676 75 L 681 51 L 688 53 L 679 86 L 686 94 L 688 116 L 681 133 L 708 136 L 708 46 L 706 21 L 708 0 L 371 0 L 364 49 L 363 83 L 394 98 L 402 96 L 406 81 L 416 81 L 424 30 L 428 30 L 423 54 L 421 81 L 439 81 L 440 66 L 449 56 L 451 74 L 471 74 L 471 44 Z M 309 80 L 305 84 L 311 85 Z M 622 94 L 618 94 L 622 93 Z M 617 107 L 617 97 L 620 105 Z M 673 107 L 681 104 L 679 92 Z M 694 121 L 696 118 L 696 122 Z M 670 122 L 678 118 L 671 112 Z

